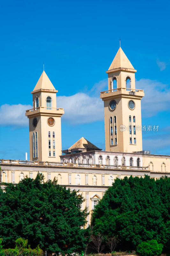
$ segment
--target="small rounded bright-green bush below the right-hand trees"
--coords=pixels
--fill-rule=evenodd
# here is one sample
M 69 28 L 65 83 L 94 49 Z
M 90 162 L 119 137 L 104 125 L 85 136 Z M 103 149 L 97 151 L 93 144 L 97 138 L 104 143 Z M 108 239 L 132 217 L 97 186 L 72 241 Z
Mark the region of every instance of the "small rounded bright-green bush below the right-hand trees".
M 139 244 L 137 246 L 137 253 L 140 256 L 155 256 L 161 254 L 162 248 L 162 244 L 158 244 L 156 240 L 150 240 Z

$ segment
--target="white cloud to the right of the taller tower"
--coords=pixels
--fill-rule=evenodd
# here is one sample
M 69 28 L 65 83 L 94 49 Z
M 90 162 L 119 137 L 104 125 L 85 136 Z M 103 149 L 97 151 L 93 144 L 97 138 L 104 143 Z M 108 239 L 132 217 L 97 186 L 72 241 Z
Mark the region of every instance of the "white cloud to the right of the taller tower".
M 167 84 L 150 79 L 140 79 L 136 81 L 136 88 L 144 90 L 145 96 L 141 100 L 141 105 L 145 117 L 170 110 L 170 90 Z

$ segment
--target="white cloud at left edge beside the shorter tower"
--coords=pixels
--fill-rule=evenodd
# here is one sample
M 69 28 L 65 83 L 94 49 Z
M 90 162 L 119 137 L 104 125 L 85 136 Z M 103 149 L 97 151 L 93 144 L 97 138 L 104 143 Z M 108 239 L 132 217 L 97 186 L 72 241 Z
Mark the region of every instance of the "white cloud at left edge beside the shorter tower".
M 24 127 L 28 126 L 28 119 L 25 116 L 26 109 L 31 109 L 31 105 L 9 105 L 0 107 L 0 126 Z

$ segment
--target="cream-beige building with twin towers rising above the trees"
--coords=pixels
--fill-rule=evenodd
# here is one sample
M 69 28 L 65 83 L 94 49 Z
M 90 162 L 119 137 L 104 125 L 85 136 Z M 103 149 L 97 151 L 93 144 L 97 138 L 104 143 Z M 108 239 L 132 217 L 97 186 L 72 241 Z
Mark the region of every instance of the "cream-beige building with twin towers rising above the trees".
M 92 210 L 116 178 L 149 175 L 159 179 L 170 177 L 170 156 L 151 155 L 142 151 L 141 100 L 143 90 L 135 87 L 132 64 L 120 48 L 109 67 L 108 91 L 101 92 L 104 101 L 106 151 L 81 138 L 69 149 L 61 148 L 61 117 L 56 90 L 43 71 L 33 92 L 33 109 L 29 118 L 30 160 L 0 160 L 1 182 L 17 184 L 24 177 L 44 181 L 55 177 L 61 186 L 79 190 Z

